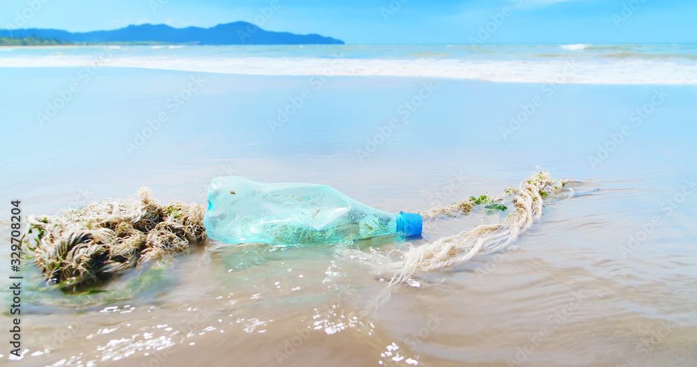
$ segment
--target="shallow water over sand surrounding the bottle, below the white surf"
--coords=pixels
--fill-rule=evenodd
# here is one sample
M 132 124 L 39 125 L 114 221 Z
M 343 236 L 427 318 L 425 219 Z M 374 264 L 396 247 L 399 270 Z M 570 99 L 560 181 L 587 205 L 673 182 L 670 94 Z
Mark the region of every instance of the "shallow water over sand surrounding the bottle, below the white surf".
M 211 243 L 92 295 L 46 288 L 25 264 L 23 366 L 697 364 L 695 86 L 559 84 L 549 94 L 537 83 L 333 76 L 316 88 L 306 76 L 102 68 L 41 125 L 36 114 L 80 70 L 0 68 L 0 192 L 24 215 L 140 186 L 160 201 L 205 203 L 210 178 L 226 174 L 328 184 L 393 212 L 496 194 L 538 164 L 577 182 L 514 247 L 386 300 L 385 279 L 334 247 Z M 192 77 L 200 88 L 174 111 L 168 100 Z M 419 107 L 404 107 L 424 88 Z M 305 90 L 287 122 L 269 123 Z M 652 99 L 645 118 L 633 115 Z M 625 125 L 631 133 L 608 143 Z M 443 219 L 411 243 L 491 220 Z M 10 325 L 7 311 L 0 320 Z

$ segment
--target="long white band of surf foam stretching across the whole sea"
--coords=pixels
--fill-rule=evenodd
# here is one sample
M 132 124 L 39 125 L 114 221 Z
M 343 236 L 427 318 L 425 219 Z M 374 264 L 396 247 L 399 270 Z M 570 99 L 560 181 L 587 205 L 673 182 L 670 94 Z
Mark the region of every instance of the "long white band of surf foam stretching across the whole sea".
M 636 58 L 480 60 L 463 58 L 47 56 L 0 57 L 0 68 L 146 68 L 236 75 L 424 77 L 510 83 L 692 84 L 697 62 Z

